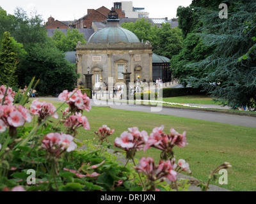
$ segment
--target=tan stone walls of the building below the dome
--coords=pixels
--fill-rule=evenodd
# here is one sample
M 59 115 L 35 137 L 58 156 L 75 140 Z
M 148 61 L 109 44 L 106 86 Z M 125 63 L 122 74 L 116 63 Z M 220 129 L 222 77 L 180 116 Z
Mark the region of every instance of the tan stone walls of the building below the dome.
M 93 73 L 93 85 L 97 89 L 99 78 L 108 84 L 124 83 L 120 72 L 131 72 L 131 82 L 146 80 L 152 82 L 152 45 L 150 43 L 87 43 L 77 44 L 77 73 L 81 74 L 79 82 L 85 84 L 84 74 L 90 68 Z M 140 76 L 140 78 L 138 78 Z

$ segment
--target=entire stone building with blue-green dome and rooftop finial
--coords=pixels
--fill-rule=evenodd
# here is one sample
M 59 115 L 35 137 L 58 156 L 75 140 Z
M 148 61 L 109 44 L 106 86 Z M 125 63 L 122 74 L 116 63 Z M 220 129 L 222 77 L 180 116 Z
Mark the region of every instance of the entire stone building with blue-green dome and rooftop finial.
M 119 24 L 118 15 L 111 11 L 104 29 L 93 33 L 85 45 L 77 43 L 77 73 L 79 82 L 85 84 L 84 74 L 93 73 L 94 88 L 101 82 L 123 83 L 126 70 L 131 73 L 131 82 L 152 82 L 152 45 L 141 43 L 131 31 Z

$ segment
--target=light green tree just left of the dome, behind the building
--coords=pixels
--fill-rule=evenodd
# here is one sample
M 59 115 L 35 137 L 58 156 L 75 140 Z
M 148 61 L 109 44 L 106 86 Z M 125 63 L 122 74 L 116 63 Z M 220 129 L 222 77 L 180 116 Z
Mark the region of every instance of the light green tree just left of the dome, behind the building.
M 82 44 L 86 43 L 83 33 L 79 33 L 77 29 L 68 29 L 67 36 L 62 31 L 56 29 L 52 40 L 54 40 L 56 47 L 63 52 L 75 51 L 77 41 L 81 41 Z

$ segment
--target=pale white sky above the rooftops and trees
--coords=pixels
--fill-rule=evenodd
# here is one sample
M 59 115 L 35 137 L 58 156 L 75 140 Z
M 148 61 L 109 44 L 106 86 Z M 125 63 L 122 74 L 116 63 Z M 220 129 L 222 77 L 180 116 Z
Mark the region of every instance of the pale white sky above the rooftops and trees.
M 122 1 L 122 0 L 120 0 Z M 14 14 L 15 8 L 21 7 L 29 14 L 31 10 L 36 10 L 42 15 L 44 21 L 47 18 L 53 17 L 55 20 L 74 20 L 83 17 L 87 14 L 87 9 L 97 9 L 105 6 L 109 10 L 113 7 L 115 0 L 1 0 L 0 6 L 9 14 Z M 133 7 L 145 8 L 149 13 L 149 18 L 165 18 L 176 17 L 178 6 L 189 6 L 192 0 L 134 0 Z

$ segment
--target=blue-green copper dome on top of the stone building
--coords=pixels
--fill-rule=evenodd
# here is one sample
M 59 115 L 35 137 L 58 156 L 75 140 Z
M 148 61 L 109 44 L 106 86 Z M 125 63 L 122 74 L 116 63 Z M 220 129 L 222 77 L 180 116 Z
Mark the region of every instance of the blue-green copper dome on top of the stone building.
M 93 33 L 87 43 L 116 43 L 119 41 L 140 43 L 136 34 L 119 25 L 119 20 L 108 19 L 107 26 L 104 29 Z

